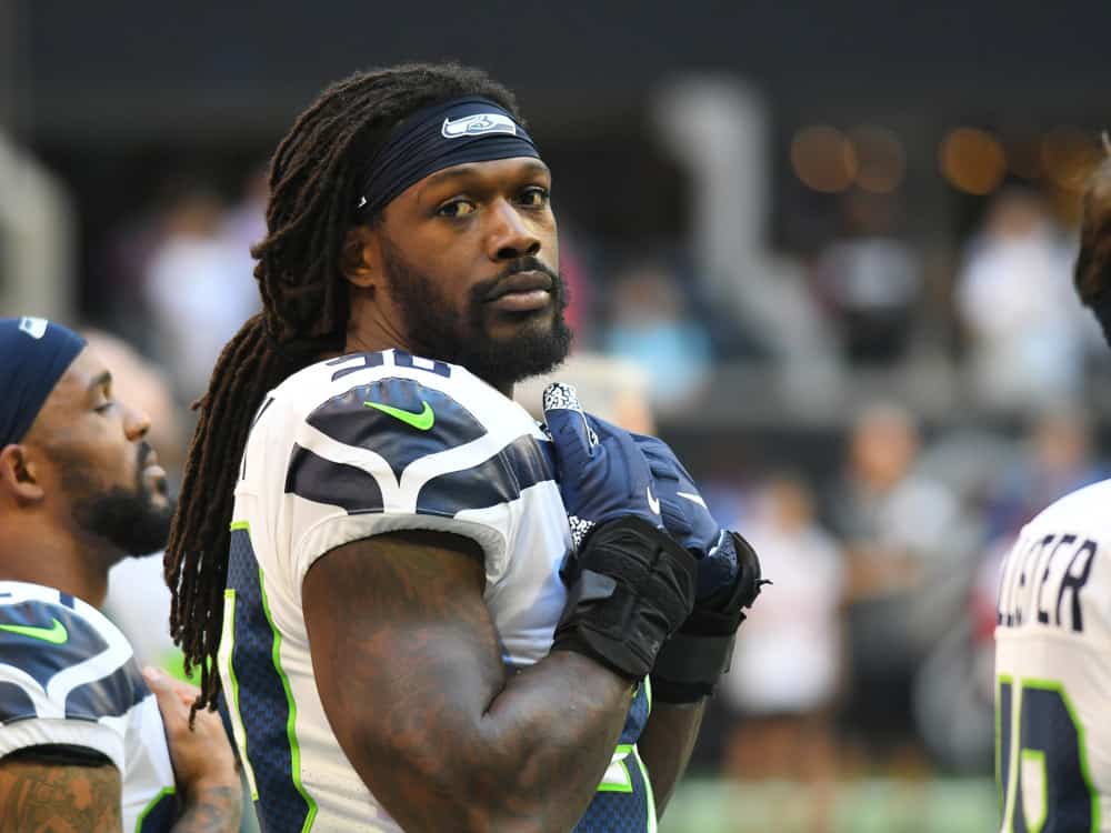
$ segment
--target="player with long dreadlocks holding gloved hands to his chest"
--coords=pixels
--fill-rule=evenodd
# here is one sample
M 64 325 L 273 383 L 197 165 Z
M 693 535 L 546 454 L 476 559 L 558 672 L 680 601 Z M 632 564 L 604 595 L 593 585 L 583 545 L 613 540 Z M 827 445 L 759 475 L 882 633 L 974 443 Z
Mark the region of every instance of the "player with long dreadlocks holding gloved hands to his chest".
M 513 97 L 358 73 L 270 187 L 167 555 L 263 827 L 654 830 L 759 563 L 658 440 L 512 402 L 570 343 Z

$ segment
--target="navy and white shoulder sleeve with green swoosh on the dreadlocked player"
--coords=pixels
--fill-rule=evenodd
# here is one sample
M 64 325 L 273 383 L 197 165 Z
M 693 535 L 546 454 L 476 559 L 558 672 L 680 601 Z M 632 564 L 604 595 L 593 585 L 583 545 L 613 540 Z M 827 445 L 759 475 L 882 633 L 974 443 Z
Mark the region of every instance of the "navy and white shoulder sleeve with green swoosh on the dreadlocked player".
M 522 490 L 553 478 L 551 466 L 511 401 L 436 382 L 386 375 L 357 384 L 298 425 L 284 484 L 298 586 L 323 553 L 398 530 L 469 538 L 483 550 L 488 581 L 501 574 L 514 505 Z

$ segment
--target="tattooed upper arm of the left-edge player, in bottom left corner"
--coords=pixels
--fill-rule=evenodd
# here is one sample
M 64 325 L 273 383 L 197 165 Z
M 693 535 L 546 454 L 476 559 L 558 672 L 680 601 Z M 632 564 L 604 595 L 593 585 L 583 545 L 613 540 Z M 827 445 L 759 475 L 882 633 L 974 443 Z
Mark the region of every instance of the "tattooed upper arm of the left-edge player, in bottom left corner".
M 120 772 L 112 764 L 0 761 L 0 830 L 120 833 Z

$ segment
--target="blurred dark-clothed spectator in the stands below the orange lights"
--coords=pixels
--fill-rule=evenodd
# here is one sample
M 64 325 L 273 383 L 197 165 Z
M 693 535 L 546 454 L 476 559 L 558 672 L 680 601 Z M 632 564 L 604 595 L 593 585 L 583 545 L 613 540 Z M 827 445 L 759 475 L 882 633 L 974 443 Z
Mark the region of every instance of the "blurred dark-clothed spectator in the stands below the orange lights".
M 891 197 L 853 192 L 842 203 L 844 234 L 818 261 L 818 294 L 853 363 L 902 359 L 913 333 L 922 264 L 895 237 L 899 214 Z

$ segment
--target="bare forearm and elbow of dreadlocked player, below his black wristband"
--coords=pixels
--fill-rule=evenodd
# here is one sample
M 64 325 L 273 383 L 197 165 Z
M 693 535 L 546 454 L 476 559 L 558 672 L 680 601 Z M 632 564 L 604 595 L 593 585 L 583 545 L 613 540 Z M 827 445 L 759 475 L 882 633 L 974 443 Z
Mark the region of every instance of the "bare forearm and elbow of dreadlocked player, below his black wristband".
M 442 710 L 399 715 L 400 754 L 363 747 L 352 763 L 372 790 L 390 784 L 407 830 L 565 832 L 602 780 L 630 695 L 593 660 L 557 651 L 478 707 L 441 697 Z

